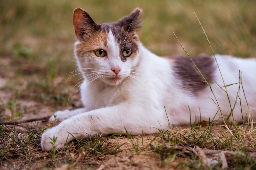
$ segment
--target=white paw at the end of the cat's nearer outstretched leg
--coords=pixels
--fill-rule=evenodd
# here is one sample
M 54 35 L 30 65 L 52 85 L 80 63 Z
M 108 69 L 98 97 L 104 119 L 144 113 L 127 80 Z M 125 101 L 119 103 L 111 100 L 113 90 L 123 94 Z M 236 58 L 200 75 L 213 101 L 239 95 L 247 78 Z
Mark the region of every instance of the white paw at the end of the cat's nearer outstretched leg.
M 41 148 L 46 151 L 50 151 L 54 148 L 58 150 L 65 145 L 67 138 L 66 133 L 58 130 L 57 127 L 47 129 L 42 134 Z

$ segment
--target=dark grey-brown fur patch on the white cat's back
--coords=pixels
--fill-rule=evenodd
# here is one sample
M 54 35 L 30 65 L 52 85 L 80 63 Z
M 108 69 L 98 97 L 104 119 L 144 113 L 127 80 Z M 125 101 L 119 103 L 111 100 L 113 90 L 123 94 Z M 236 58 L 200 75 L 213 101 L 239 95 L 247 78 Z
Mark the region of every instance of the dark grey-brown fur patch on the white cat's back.
M 193 62 L 188 57 L 172 57 L 173 70 L 176 77 L 181 80 L 183 88 L 193 93 L 207 87 L 204 78 L 196 69 Z M 193 57 L 192 60 L 205 77 L 208 83 L 214 82 L 214 73 L 216 70 L 213 57 Z

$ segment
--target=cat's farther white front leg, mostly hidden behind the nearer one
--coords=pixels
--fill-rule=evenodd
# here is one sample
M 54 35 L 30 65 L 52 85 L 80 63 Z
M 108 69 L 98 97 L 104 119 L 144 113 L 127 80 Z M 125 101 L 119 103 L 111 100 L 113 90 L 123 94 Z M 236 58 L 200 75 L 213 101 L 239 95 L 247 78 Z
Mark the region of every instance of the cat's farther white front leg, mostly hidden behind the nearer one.
M 79 109 L 75 109 L 75 110 L 59 110 L 57 112 L 55 112 L 50 118 L 49 121 L 53 122 L 53 121 L 63 121 L 65 119 L 68 119 L 71 116 L 77 115 L 79 113 L 84 113 L 86 112 L 86 108 L 79 108 Z

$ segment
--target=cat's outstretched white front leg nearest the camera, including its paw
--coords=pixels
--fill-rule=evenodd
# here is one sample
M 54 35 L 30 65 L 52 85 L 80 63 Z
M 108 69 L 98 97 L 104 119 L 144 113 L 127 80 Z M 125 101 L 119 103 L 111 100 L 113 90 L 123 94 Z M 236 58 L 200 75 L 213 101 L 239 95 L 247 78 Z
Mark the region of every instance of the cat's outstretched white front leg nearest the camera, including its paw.
M 55 148 L 60 149 L 74 138 L 87 138 L 97 133 L 126 134 L 124 127 L 134 135 L 142 134 L 142 129 L 144 134 L 158 133 L 157 128 L 161 128 L 159 122 L 163 122 L 163 116 L 155 113 L 145 108 L 119 104 L 74 115 L 56 127 L 47 129 L 42 134 L 41 148 L 51 150 L 54 146 L 50 142 L 54 137 L 57 138 Z

